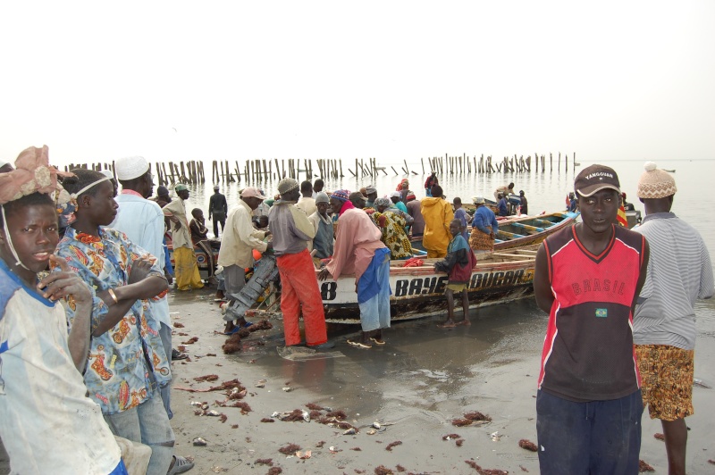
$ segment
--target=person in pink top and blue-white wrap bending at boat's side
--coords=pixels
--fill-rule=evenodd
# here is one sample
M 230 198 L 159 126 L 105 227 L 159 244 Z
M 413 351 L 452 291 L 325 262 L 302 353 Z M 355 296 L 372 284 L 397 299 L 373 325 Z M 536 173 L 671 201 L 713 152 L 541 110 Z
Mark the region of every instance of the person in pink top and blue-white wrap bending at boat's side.
M 340 215 L 332 259 L 318 279 L 340 279 L 355 274 L 357 304 L 360 308 L 362 337 L 348 340 L 359 348 L 384 345 L 383 329 L 390 328 L 390 250 L 381 240 L 380 229 L 370 217 L 349 201 L 350 192 L 341 189 L 330 198 L 332 212 Z

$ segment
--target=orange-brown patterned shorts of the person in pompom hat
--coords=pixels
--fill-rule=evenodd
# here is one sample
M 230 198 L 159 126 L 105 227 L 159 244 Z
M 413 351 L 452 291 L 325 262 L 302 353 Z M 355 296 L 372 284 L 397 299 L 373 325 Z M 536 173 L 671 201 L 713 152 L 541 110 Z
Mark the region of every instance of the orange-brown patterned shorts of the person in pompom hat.
M 636 345 L 643 404 L 651 419 L 675 421 L 694 413 L 694 350 L 668 345 Z

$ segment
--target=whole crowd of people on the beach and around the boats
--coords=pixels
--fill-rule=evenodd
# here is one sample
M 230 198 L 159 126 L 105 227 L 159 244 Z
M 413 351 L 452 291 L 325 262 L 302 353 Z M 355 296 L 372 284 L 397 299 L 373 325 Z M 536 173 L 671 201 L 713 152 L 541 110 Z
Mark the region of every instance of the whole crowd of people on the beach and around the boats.
M 273 199 L 246 187 L 236 204 L 214 187 L 214 262 L 204 212 L 192 209 L 189 221 L 186 185 L 175 198 L 158 187 L 151 199 L 142 157 L 117 160 L 114 173 L 118 183 L 99 171 L 61 173 L 46 146 L 0 171 L 0 437 L 13 472 L 122 474 L 124 461 L 157 475 L 191 469 L 174 454 L 170 423 L 171 361 L 181 358 L 171 280 L 179 292 L 216 285 L 233 304 L 266 254 L 280 276 L 285 346 L 321 351 L 334 342 L 319 281 L 352 275 L 362 332 L 348 344 L 369 349 L 387 344 L 391 261 L 411 258 L 421 238 L 434 271 L 448 276 L 442 326 L 469 325 L 475 254 L 493 250 L 499 232 L 484 196 L 467 213 L 460 198 L 445 199 L 436 173 L 419 201 L 408 179 L 381 197 L 373 186 L 329 193 L 322 180 L 287 178 Z M 501 188 L 499 203 L 515 196 L 513 183 Z M 694 301 L 713 294 L 710 256 L 670 211 L 675 180 L 652 163 L 638 184 L 638 229 L 615 225 L 624 197 L 609 167 L 581 171 L 574 189 L 582 222 L 548 237 L 535 262 L 536 302 L 549 313 L 536 398 L 542 471 L 635 473 L 647 405 L 662 421 L 669 471 L 685 473 Z M 523 191 L 514 205 L 526 209 Z M 197 248 L 209 258 L 206 284 Z M 234 317 L 224 317 L 227 335 L 251 325 Z

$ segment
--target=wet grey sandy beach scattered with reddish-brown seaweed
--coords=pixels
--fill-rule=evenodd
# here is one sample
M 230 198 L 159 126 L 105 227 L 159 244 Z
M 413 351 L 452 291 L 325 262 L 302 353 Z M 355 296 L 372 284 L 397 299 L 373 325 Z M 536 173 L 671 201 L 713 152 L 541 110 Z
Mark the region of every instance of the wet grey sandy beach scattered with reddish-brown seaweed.
M 215 333 L 223 323 L 212 291 L 172 293 L 170 304 L 172 320 L 183 325 L 174 329 L 174 346 L 198 337 L 185 345 L 190 361 L 173 362 L 172 427 L 176 453 L 196 462 L 189 473 L 267 473 L 271 467 L 258 464 L 260 459 L 272 459 L 282 473 L 372 474 L 381 465 L 394 473 L 475 473 L 466 461 L 509 473 L 539 472 L 537 454 L 518 446 L 524 438 L 536 442 L 536 378 L 547 316 L 532 298 L 472 312 L 470 327 L 438 329 L 436 319 L 402 322 L 385 332 L 386 346 L 370 350 L 345 343 L 358 330 L 350 326 L 329 329 L 336 342 L 332 350 L 284 351 L 282 322 L 271 320 L 273 329 L 252 333 L 241 342 L 242 351 L 231 355 L 222 351 L 226 337 Z M 711 385 L 714 309 L 712 302 L 698 306 L 704 318 L 698 323 L 695 353 L 695 377 Z M 218 379 L 195 380 L 211 374 Z M 226 400 L 226 391 L 181 389 L 207 389 L 231 379 L 246 387 L 241 401 L 249 412 L 215 404 Z M 715 459 L 712 392 L 694 387 L 696 413 L 687 419 L 690 473 L 715 472 L 708 462 Z M 191 405 L 196 401 L 225 414 L 225 422 L 196 415 Z M 343 435 L 344 429 L 315 418 L 262 421 L 273 412 L 309 411 L 309 403 L 345 412 L 344 421 L 357 433 Z M 454 427 L 451 421 L 467 412 L 482 412 L 492 421 Z M 375 421 L 381 429 L 370 427 Z M 653 437 L 661 432 L 660 422 L 647 416 L 643 422 L 640 458 L 666 473 L 665 446 Z M 450 434 L 459 436 L 461 446 L 451 438 L 443 440 Z M 193 446 L 196 437 L 204 438 L 206 446 Z M 301 460 L 279 452 L 290 444 L 300 446 L 302 453 L 311 451 L 311 457 Z M 0 462 L 0 474 L 8 472 L 7 462 Z

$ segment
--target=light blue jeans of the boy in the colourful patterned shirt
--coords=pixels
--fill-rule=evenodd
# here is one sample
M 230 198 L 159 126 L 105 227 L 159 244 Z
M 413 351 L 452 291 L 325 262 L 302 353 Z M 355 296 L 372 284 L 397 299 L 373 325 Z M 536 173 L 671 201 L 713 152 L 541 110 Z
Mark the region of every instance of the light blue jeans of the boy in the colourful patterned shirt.
M 172 464 L 174 435 L 158 394 L 127 411 L 105 414 L 105 421 L 115 436 L 151 448 L 147 475 L 166 475 Z

